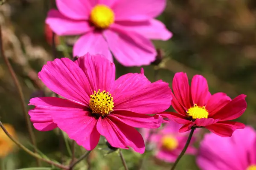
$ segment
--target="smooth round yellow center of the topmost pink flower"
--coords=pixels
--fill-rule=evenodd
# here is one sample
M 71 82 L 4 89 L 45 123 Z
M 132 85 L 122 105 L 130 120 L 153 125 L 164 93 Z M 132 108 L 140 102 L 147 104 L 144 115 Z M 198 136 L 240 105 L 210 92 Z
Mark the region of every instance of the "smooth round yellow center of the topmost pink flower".
M 90 14 L 90 21 L 97 28 L 108 28 L 114 23 L 115 14 L 111 8 L 105 5 L 96 5 Z

